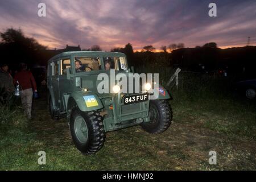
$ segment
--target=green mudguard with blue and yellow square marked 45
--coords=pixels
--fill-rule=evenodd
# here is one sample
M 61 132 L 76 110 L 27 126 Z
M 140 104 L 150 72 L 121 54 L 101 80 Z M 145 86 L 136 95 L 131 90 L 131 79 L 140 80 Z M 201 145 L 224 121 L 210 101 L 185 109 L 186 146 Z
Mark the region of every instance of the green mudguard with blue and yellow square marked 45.
M 100 98 L 93 92 L 73 92 L 68 99 L 68 108 L 72 108 L 73 104 L 76 104 L 81 111 L 98 110 L 104 107 Z

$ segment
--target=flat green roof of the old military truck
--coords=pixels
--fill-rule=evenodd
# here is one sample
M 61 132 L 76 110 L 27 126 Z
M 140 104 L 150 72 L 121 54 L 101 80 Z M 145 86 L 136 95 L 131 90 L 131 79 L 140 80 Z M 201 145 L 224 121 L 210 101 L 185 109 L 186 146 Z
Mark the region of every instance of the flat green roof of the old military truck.
M 56 56 L 53 56 L 49 61 L 67 56 L 94 56 L 94 57 L 112 57 L 112 56 L 125 56 L 124 53 L 121 52 L 105 52 L 105 51 L 71 51 L 71 52 L 63 52 L 59 53 Z

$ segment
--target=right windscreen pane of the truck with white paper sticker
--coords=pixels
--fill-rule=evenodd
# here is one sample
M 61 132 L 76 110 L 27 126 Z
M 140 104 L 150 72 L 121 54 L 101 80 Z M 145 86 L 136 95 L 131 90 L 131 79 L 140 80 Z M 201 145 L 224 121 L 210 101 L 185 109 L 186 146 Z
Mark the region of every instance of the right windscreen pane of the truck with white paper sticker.
M 103 61 L 105 70 L 125 71 L 127 69 L 125 57 L 103 57 Z

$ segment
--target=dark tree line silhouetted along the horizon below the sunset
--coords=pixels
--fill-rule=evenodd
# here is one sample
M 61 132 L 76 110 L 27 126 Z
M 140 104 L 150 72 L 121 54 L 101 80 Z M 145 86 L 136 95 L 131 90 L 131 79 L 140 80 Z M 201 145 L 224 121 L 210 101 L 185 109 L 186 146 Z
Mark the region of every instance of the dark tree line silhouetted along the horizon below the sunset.
M 34 38 L 24 36 L 22 30 L 13 28 L 0 33 L 1 63 L 8 63 L 10 67 L 18 67 L 20 62 L 29 66 L 34 64 L 47 65 L 47 60 L 56 54 L 49 51 L 46 46 L 39 44 Z M 134 52 L 133 46 L 128 43 L 125 47 L 112 48 L 112 52 L 123 52 L 127 56 L 130 66 L 141 70 L 167 67 L 180 67 L 187 71 L 201 71 L 199 65 L 204 65 L 205 71 L 229 69 L 230 73 L 248 73 L 255 76 L 254 68 L 256 47 L 246 46 L 240 48 L 220 49 L 214 42 L 203 46 L 185 48 L 184 43 L 172 43 L 161 46 L 161 52 L 155 52 L 152 45 L 144 46 L 142 51 Z M 98 45 L 82 51 L 102 51 Z

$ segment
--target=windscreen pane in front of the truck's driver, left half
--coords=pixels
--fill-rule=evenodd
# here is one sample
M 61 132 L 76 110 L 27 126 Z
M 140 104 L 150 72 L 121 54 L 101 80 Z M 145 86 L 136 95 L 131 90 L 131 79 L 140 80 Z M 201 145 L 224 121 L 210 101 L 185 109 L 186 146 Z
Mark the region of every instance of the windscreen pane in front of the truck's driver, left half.
M 76 73 L 90 72 L 101 69 L 100 57 L 75 57 Z

